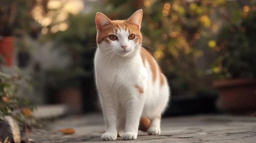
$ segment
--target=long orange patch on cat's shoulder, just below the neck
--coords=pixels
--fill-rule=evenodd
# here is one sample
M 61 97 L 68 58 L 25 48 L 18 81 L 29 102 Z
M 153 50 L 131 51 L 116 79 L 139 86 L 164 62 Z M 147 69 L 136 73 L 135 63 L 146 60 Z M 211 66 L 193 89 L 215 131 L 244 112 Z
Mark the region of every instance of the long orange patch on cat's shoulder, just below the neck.
M 143 47 L 141 47 L 141 58 L 142 58 L 142 62 L 145 66 L 145 61 L 148 61 L 149 65 L 150 65 L 150 69 L 152 72 L 152 79 L 155 82 L 156 80 L 156 76 L 157 76 L 157 72 L 156 72 L 156 64 L 155 61 L 152 57 L 152 55 Z

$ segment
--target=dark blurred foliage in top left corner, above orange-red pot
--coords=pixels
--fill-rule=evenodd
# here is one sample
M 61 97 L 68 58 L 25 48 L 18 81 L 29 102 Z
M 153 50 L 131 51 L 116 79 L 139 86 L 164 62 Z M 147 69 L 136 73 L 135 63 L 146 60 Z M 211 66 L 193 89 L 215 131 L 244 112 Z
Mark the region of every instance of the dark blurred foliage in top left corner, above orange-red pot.
M 34 0 L 2 0 L 0 2 L 0 35 L 20 37 L 28 31 L 30 36 L 35 36 L 38 27 L 31 17 L 35 4 Z

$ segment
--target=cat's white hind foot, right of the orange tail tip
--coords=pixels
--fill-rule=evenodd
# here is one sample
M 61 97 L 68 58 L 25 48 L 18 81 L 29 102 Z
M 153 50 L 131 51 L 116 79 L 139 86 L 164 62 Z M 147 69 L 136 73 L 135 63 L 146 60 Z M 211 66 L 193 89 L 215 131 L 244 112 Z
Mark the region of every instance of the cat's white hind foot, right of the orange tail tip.
M 150 121 L 150 127 L 148 129 L 148 134 L 149 135 L 159 135 L 161 133 L 160 124 L 161 124 L 161 115 L 152 118 Z

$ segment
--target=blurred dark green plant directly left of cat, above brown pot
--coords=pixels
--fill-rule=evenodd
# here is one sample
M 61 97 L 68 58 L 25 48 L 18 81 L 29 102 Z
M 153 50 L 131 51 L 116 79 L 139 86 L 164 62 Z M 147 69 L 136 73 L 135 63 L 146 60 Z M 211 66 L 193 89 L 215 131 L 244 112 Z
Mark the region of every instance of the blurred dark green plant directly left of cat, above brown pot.
M 47 83 L 55 89 L 78 87 L 82 78 L 93 76 L 93 56 L 95 51 L 96 29 L 95 11 L 89 14 L 69 14 L 64 22 L 68 24 L 65 31 L 51 33 L 44 40 L 54 39 L 52 50 L 59 50 L 68 56 L 71 63 L 65 68 L 52 68 L 46 71 Z M 56 24 L 58 25 L 58 23 Z M 48 28 L 51 29 L 55 25 Z M 92 28 L 93 27 L 93 28 Z

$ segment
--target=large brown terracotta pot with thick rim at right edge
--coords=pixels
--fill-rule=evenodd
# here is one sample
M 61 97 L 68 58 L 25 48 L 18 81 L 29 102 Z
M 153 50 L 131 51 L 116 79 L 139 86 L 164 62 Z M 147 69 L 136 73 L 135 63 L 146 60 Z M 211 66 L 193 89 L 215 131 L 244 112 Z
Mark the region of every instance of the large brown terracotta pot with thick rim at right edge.
M 230 113 L 247 113 L 256 110 L 256 79 L 213 81 L 220 91 L 222 108 Z

